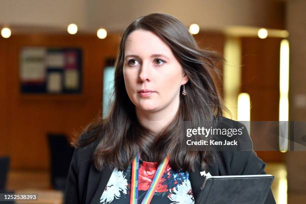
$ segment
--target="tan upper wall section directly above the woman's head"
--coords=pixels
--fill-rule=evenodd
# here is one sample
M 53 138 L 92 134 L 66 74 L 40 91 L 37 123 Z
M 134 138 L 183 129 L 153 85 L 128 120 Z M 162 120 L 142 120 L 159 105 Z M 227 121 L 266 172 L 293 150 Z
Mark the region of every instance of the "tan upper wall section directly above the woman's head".
M 282 29 L 284 2 L 278 0 L 91 0 L 88 2 L 90 26 L 105 25 L 122 29 L 126 21 L 151 12 L 166 12 L 186 25 L 198 23 L 204 29 L 246 25 Z M 116 11 L 118 15 L 113 15 Z M 259 14 L 260 13 L 260 14 Z M 108 16 L 111 16 L 109 18 Z M 125 20 L 122 20 L 125 19 Z

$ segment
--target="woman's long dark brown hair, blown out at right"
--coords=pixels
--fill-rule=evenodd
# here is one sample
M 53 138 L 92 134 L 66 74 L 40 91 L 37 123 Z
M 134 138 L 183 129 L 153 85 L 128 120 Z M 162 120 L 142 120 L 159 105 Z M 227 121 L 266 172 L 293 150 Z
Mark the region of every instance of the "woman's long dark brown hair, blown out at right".
M 143 127 L 135 115 L 123 78 L 124 44 L 134 30 L 143 29 L 157 34 L 172 50 L 189 81 L 185 84 L 187 95 L 180 95 L 177 114 L 169 125 L 157 134 Z M 75 147 L 95 143 L 92 161 L 96 169 L 106 165 L 124 169 L 137 152 L 141 158 L 160 162 L 169 155 L 174 169 L 194 170 L 198 162 L 201 168 L 214 161 L 213 151 L 191 151 L 185 144 L 184 121 L 196 126 L 198 121 L 210 125 L 222 116 L 221 99 L 210 72 L 219 74 L 215 66 L 221 57 L 214 51 L 200 49 L 188 29 L 173 16 L 152 13 L 131 22 L 122 34 L 115 62 L 113 101 L 108 115 L 96 118 L 87 125 L 74 142 Z M 225 108 L 226 109 L 226 108 Z

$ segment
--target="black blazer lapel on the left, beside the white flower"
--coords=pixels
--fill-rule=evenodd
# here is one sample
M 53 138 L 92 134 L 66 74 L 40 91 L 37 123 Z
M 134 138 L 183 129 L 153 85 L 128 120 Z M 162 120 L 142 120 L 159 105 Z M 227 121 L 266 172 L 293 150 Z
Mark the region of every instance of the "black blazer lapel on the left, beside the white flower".
M 112 171 L 112 168 L 104 167 L 104 169 L 100 172 L 97 171 L 93 165 L 90 165 L 85 198 L 86 204 L 100 202 L 101 194 L 104 191 Z

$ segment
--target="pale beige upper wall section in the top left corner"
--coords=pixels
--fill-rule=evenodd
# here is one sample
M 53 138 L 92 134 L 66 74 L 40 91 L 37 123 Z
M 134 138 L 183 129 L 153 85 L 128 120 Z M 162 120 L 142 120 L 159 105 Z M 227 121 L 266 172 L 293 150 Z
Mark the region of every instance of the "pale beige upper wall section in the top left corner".
M 18 29 L 41 26 L 54 31 L 72 22 L 87 26 L 86 0 L 1 0 L 0 13 L 0 24 Z

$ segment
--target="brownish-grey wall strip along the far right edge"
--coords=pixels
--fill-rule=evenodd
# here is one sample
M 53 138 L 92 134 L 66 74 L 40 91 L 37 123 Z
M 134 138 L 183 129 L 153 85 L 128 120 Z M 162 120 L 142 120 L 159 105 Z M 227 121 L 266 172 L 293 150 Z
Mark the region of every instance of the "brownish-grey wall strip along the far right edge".
M 288 0 L 286 26 L 289 31 L 289 120 L 306 121 L 306 1 Z M 304 133 L 304 132 L 303 132 Z M 301 136 L 301 135 L 296 135 Z M 303 149 L 305 149 L 305 143 Z M 306 202 L 306 152 L 290 151 L 286 155 L 288 203 Z

